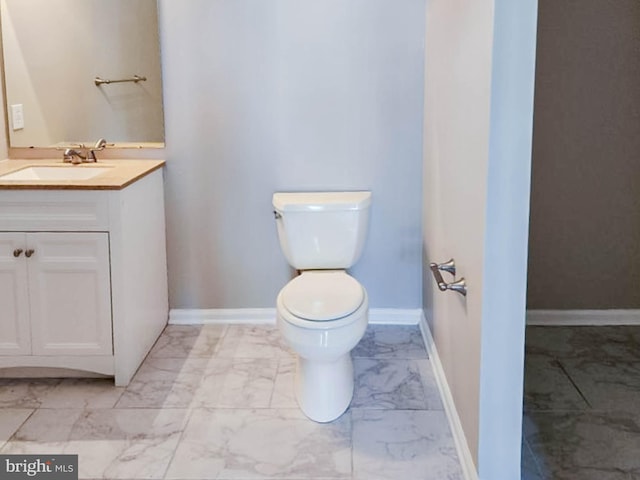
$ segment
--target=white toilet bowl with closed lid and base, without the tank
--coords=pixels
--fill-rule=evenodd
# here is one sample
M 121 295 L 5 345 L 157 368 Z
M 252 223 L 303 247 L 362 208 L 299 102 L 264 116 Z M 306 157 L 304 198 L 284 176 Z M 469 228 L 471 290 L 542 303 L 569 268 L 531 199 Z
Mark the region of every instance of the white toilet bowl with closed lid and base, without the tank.
M 366 290 L 345 271 L 306 271 L 278 294 L 277 324 L 297 353 L 295 397 L 316 422 L 342 415 L 353 397 L 351 350 L 368 323 Z

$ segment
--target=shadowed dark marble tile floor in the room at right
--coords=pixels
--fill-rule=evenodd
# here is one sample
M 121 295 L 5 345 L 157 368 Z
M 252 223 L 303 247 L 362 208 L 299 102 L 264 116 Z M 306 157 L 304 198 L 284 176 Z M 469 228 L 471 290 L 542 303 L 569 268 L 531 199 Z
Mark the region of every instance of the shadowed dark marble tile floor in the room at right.
M 640 326 L 527 327 L 522 478 L 640 479 Z

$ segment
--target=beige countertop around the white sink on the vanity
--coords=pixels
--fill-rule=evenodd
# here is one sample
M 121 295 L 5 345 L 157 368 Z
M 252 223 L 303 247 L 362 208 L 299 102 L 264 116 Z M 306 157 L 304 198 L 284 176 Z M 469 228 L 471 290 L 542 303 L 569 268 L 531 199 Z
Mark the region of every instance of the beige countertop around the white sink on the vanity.
M 145 175 L 162 168 L 164 160 L 98 160 L 97 163 L 72 165 L 62 160 L 0 161 L 0 190 L 60 189 L 60 190 L 120 190 Z M 60 168 L 104 167 L 105 172 L 88 180 L 4 180 L 2 175 L 32 166 Z

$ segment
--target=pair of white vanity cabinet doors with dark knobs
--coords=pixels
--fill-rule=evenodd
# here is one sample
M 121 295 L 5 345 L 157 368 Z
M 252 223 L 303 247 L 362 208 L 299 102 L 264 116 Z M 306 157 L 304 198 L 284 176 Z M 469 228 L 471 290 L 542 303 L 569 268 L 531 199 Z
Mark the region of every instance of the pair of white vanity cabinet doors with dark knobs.
M 0 233 L 0 272 L 0 355 L 113 354 L 108 233 Z

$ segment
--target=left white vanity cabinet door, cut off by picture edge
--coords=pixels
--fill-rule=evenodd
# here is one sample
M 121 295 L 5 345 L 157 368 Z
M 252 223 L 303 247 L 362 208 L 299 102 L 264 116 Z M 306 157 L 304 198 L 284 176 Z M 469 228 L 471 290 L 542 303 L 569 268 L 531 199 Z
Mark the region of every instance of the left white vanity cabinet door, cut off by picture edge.
M 0 355 L 29 355 L 25 234 L 0 233 Z

